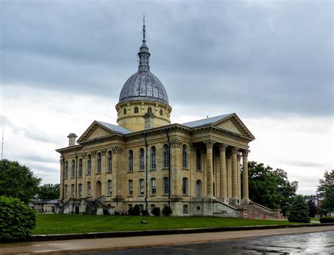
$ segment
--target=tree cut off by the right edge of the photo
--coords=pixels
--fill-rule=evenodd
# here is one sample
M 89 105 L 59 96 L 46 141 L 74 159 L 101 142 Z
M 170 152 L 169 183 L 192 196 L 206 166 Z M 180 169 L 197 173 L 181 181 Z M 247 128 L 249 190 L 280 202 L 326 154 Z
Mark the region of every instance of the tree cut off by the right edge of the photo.
M 334 211 L 334 169 L 325 171 L 316 191 L 323 197 L 321 209 L 326 212 Z

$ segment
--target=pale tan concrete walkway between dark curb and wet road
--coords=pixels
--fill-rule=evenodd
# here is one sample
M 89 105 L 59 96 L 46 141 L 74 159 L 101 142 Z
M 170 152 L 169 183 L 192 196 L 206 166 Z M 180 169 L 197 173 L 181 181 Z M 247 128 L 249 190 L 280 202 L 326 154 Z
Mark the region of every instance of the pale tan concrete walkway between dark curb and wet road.
M 314 228 L 280 228 L 271 230 L 244 230 L 183 235 L 116 237 L 101 238 L 96 240 L 89 239 L 48 242 L 20 242 L 0 244 L 0 254 L 66 254 L 92 251 L 113 251 L 118 249 L 173 246 L 178 244 L 217 242 L 235 238 L 286 235 L 320 231 L 334 231 L 334 225 Z

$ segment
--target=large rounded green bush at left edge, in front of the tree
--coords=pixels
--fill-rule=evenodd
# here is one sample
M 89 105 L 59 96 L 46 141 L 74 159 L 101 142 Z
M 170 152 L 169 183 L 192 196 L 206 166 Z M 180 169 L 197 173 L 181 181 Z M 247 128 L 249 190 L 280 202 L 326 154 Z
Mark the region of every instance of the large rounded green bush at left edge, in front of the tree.
M 0 242 L 25 239 L 35 225 L 35 211 L 29 206 L 20 199 L 0 196 Z

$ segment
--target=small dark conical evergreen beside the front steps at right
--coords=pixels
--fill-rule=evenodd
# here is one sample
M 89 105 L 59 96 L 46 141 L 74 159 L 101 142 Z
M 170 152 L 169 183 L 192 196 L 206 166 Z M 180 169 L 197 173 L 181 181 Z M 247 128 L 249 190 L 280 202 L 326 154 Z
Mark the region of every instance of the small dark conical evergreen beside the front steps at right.
M 309 206 L 307 206 L 302 195 L 298 195 L 293 199 L 287 220 L 299 223 L 309 223 L 311 220 L 309 217 Z

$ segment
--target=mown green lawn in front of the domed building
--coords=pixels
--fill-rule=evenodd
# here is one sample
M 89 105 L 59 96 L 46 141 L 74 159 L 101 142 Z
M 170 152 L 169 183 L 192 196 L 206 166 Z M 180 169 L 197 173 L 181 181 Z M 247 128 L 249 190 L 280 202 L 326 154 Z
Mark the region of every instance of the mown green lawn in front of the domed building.
M 148 224 L 141 224 L 147 220 Z M 281 220 L 243 220 L 214 217 L 149 217 L 149 216 L 96 216 L 70 214 L 37 214 L 33 235 L 84 232 L 111 232 L 126 230 L 167 230 L 178 228 L 216 228 L 247 225 L 294 224 Z

